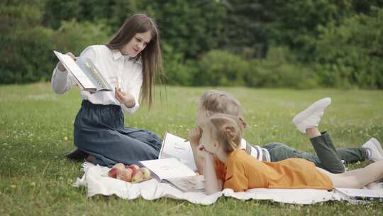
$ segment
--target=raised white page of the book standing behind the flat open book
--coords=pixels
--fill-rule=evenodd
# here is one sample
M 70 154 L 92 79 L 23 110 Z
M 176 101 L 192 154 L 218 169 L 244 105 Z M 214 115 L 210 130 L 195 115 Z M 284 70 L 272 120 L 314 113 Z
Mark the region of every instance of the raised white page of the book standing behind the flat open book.
M 192 171 L 197 170 L 190 142 L 174 134 L 165 134 L 158 158 L 177 158 L 181 163 L 191 168 Z

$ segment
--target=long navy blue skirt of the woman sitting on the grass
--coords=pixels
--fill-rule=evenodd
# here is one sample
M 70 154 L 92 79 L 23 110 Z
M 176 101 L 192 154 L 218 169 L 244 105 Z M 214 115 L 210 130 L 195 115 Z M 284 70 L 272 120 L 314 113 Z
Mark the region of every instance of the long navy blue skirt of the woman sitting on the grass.
M 126 127 L 118 105 L 83 100 L 74 121 L 74 145 L 94 156 L 91 162 L 101 166 L 157 159 L 161 144 L 152 131 Z

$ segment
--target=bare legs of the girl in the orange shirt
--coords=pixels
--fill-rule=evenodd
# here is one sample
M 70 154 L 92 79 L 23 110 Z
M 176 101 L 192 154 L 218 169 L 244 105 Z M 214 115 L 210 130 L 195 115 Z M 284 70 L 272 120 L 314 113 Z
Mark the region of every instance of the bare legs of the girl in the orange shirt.
M 333 182 L 334 188 L 362 188 L 368 183 L 383 178 L 383 161 L 339 174 L 329 173 L 321 168 L 318 168 L 318 170 L 328 175 Z

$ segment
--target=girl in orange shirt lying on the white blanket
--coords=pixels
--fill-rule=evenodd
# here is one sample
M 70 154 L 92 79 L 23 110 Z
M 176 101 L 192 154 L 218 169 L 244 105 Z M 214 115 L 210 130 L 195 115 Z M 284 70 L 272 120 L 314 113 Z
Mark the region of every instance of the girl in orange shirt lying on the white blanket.
M 223 188 L 235 192 L 251 188 L 362 188 L 383 178 L 383 161 L 339 174 L 329 173 L 301 158 L 257 161 L 239 148 L 240 121 L 231 115 L 213 114 L 204 125 L 199 155 L 204 157 L 207 194 Z

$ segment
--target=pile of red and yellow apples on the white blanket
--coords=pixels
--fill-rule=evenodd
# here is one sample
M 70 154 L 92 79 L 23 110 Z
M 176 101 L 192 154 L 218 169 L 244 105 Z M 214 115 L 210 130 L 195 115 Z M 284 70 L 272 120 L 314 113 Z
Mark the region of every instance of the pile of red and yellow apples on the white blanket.
M 150 171 L 148 168 L 139 167 L 135 164 L 125 166 L 123 163 L 116 163 L 108 172 L 111 178 L 125 180 L 127 182 L 138 183 L 145 179 L 150 178 Z

